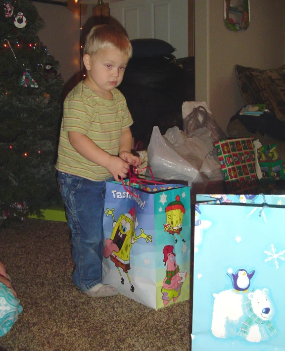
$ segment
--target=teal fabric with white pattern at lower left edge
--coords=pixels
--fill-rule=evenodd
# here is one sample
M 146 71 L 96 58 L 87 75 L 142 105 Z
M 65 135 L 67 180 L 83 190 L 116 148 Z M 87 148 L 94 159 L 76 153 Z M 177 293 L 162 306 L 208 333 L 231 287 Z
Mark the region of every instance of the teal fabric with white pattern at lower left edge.
M 20 300 L 14 297 L 10 288 L 0 282 L 0 337 L 11 329 L 22 311 Z

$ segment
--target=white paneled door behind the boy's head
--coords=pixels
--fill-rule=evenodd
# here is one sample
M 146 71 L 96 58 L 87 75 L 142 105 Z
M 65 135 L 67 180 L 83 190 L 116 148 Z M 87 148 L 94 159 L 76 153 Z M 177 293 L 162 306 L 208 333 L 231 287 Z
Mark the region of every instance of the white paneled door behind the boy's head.
M 162 39 L 176 48 L 176 58 L 188 56 L 188 0 L 123 0 L 109 6 L 131 40 Z

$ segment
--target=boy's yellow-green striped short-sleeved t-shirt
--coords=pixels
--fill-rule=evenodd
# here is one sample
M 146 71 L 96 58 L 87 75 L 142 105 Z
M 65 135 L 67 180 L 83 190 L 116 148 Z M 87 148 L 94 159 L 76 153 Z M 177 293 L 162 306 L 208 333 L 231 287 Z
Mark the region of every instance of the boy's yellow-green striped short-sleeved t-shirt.
M 109 171 L 81 156 L 70 144 L 68 131 L 88 136 L 99 148 L 111 155 L 119 154 L 123 128 L 133 124 L 126 100 L 118 89 L 113 100 L 97 96 L 80 82 L 64 101 L 56 169 L 94 181 L 111 177 Z

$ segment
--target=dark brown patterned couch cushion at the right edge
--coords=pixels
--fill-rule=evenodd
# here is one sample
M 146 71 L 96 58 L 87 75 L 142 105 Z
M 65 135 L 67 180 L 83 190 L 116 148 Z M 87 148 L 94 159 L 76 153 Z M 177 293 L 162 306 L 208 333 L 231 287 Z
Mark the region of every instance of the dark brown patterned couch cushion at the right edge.
M 267 70 L 236 65 L 236 72 L 244 103 L 265 103 L 285 121 L 285 65 Z

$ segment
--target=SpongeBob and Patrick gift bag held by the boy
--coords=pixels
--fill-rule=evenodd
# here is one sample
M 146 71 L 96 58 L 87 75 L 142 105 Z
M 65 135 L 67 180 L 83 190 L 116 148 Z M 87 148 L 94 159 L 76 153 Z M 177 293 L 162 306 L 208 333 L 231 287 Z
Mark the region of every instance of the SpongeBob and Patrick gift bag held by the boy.
M 155 309 L 189 300 L 190 187 L 107 183 L 103 231 L 103 284 Z

